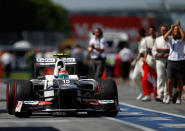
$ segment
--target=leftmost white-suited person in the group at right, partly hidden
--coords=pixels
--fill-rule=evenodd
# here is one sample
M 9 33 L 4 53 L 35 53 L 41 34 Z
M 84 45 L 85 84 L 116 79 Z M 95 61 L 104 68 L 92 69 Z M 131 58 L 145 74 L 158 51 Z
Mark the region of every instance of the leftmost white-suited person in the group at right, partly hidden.
M 140 29 L 138 31 L 138 38 L 139 38 L 139 45 L 138 45 L 138 56 L 136 58 L 136 65 L 134 67 L 133 74 L 131 76 L 131 79 L 135 82 L 137 85 L 137 88 L 139 89 L 139 96 L 137 97 L 137 100 L 141 100 L 143 98 L 143 88 L 141 79 L 143 77 L 143 58 L 146 53 L 146 41 L 145 41 L 145 30 Z

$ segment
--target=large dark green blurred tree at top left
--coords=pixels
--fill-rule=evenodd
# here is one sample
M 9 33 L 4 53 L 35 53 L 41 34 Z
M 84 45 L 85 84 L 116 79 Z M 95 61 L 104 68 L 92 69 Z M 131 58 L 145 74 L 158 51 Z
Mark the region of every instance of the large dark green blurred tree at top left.
M 68 31 L 68 12 L 50 0 L 1 0 L 0 31 Z

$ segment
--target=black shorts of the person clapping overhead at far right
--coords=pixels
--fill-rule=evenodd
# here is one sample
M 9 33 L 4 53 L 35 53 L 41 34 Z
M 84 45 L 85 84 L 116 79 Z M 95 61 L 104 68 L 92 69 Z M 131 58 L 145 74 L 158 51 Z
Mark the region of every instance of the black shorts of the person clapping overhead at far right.
M 167 65 L 168 78 L 183 78 L 185 61 L 170 61 Z

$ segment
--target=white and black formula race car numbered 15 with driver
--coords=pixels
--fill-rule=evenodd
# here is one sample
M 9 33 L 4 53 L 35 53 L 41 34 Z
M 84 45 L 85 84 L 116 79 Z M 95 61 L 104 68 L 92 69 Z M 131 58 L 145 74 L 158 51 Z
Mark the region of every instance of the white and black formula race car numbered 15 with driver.
M 34 112 L 117 115 L 119 103 L 114 80 L 78 77 L 76 59 L 63 54 L 37 58 L 35 68 L 43 76 L 9 81 L 7 112 L 10 115 L 29 117 Z

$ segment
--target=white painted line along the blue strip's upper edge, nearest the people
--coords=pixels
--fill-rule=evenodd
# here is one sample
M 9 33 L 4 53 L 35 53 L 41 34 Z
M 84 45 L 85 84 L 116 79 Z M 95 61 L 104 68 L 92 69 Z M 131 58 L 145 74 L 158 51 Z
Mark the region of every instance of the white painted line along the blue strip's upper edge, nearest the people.
M 148 109 L 148 108 L 144 108 L 144 107 L 134 106 L 134 105 L 130 105 L 130 104 L 127 104 L 127 103 L 124 103 L 124 102 L 120 102 L 120 104 L 129 106 L 129 107 L 133 107 L 133 108 L 137 108 L 137 109 L 141 109 L 141 110 L 145 110 L 145 111 L 151 111 L 151 112 L 155 112 L 155 113 L 162 113 L 162 114 L 171 115 L 171 116 L 175 116 L 175 117 L 185 118 L 185 116 L 183 116 L 183 115 L 178 115 L 178 114 L 173 114 L 173 113 L 168 113 L 168 112 L 162 112 L 162 111 L 157 111 L 157 110 L 153 110 L 153 109 Z

